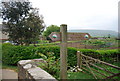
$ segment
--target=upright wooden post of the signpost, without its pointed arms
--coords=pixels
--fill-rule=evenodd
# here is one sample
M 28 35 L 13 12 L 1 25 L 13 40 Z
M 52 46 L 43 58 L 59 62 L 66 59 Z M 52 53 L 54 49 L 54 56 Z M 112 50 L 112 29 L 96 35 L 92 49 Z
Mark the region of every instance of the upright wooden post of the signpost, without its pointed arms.
M 67 25 L 60 25 L 60 79 L 67 79 Z

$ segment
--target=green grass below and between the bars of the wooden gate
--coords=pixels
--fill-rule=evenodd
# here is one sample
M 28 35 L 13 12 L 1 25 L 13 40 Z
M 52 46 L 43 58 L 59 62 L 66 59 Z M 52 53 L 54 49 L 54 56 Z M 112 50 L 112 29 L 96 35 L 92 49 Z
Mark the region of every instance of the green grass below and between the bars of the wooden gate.
M 119 72 L 120 72 L 120 70 L 117 70 L 117 69 L 112 68 L 112 67 L 107 66 L 107 65 L 103 65 L 103 64 L 97 64 L 97 65 L 100 66 L 100 67 L 102 67 L 102 68 L 105 68 L 105 69 L 107 69 L 107 70 L 109 70 L 109 71 L 111 71 L 111 72 L 113 72 L 113 73 L 119 73 Z M 120 66 L 120 63 L 119 63 L 119 62 L 116 62 L 116 63 L 114 63 L 114 65 L 119 65 L 119 66 Z M 98 69 L 98 68 L 95 68 L 95 67 L 92 67 L 92 68 L 96 69 L 97 71 L 99 71 L 99 72 L 101 72 L 101 73 L 103 73 L 103 74 L 105 74 L 105 75 L 107 75 L 107 76 L 110 76 L 110 75 L 111 75 L 110 73 L 107 73 L 107 72 L 105 72 L 105 71 L 103 71 L 103 70 L 100 70 L 100 69 Z M 86 68 L 86 69 L 88 69 L 88 68 Z M 89 69 L 88 69 L 88 70 L 89 70 Z M 90 71 L 90 70 L 89 70 L 89 71 Z M 82 73 L 82 72 L 69 72 L 69 73 L 68 73 L 68 79 L 94 79 L 94 77 L 93 77 L 92 74 L 90 74 L 90 73 L 87 72 L 87 71 L 85 71 L 85 72 L 86 72 L 86 73 Z M 95 75 L 100 76 L 100 77 L 97 76 L 97 79 L 106 78 L 105 76 L 103 76 L 103 75 L 101 75 L 101 74 L 99 74 L 99 73 L 97 73 L 97 72 L 95 72 L 95 71 L 93 71 L 93 72 L 94 72 Z M 116 77 L 114 77 L 113 79 L 120 79 L 120 76 L 116 76 Z

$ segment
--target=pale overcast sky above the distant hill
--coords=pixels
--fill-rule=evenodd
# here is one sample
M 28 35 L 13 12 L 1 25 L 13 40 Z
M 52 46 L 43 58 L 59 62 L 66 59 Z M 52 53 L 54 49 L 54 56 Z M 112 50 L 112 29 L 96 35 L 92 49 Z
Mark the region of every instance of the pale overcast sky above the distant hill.
M 68 29 L 118 30 L 120 0 L 30 0 L 40 9 L 47 26 L 67 24 Z

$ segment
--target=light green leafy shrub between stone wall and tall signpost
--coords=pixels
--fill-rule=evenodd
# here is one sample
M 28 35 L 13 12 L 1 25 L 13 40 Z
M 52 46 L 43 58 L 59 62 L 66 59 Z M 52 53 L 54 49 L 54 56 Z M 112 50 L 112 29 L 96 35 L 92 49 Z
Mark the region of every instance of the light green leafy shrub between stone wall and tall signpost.
M 55 78 L 59 78 L 60 74 L 60 59 L 55 59 L 53 52 L 48 52 L 47 56 L 40 54 L 44 59 L 44 62 L 39 63 L 39 67 L 53 75 Z

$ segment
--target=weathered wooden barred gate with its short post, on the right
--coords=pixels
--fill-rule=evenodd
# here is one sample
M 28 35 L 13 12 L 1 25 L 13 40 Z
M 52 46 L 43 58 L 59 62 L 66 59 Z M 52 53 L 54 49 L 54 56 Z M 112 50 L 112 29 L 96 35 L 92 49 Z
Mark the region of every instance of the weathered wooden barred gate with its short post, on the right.
M 120 67 L 94 59 L 90 56 L 77 52 L 77 66 L 84 70 L 85 73 L 90 73 L 95 79 L 113 79 L 120 77 Z M 115 72 L 113 72 L 113 69 Z

